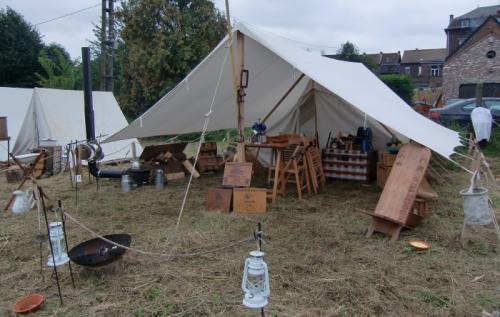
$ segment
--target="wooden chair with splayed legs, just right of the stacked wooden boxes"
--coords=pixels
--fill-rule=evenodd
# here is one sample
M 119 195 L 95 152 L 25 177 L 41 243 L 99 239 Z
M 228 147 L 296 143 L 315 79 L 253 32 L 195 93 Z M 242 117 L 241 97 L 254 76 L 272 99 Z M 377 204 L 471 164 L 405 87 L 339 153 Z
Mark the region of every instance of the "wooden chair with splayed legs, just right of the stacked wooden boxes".
M 288 149 L 285 151 L 288 153 L 284 153 L 284 157 L 289 157 L 288 160 L 285 161 L 286 163 L 279 173 L 281 181 L 278 181 L 282 182 L 279 184 L 280 192 L 284 196 L 286 194 L 286 185 L 292 183 L 296 186 L 298 198 L 302 199 L 304 190 L 307 190 L 308 194 L 311 193 L 309 172 L 305 159 L 306 147 L 303 145 L 295 145 L 295 149 L 291 155 L 289 155 Z

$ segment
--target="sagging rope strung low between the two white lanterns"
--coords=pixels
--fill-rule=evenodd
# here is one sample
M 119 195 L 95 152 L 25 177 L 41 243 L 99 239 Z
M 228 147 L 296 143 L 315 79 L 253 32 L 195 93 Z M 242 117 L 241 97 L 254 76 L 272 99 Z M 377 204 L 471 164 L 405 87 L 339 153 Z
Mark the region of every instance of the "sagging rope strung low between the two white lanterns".
M 252 241 L 255 240 L 255 237 L 250 237 L 250 238 L 239 240 L 239 241 L 236 241 L 236 242 L 233 242 L 233 243 L 229 243 L 229 244 L 227 244 L 225 246 L 222 246 L 222 247 L 218 247 L 218 248 L 214 248 L 214 249 L 209 249 L 209 250 L 204 250 L 204 251 L 199 251 L 199 252 L 177 253 L 177 254 L 172 254 L 172 253 L 158 253 L 158 252 L 144 251 L 144 250 L 141 250 L 141 249 L 136 249 L 136 248 L 132 248 L 132 247 L 128 247 L 128 246 L 116 243 L 116 242 L 114 242 L 112 240 L 109 240 L 109 239 L 106 239 L 102 235 L 96 233 L 95 231 L 93 231 L 92 229 L 90 229 L 89 227 L 87 227 L 86 225 L 84 225 L 83 223 L 81 223 L 80 221 L 76 220 L 69 213 L 64 212 L 64 216 L 66 216 L 69 220 L 73 221 L 76 225 L 78 225 L 79 227 L 81 227 L 82 229 L 84 229 L 85 231 L 87 231 L 88 233 L 90 233 L 91 235 L 93 235 L 93 236 L 95 236 L 95 237 L 97 237 L 97 238 L 99 238 L 99 239 L 101 239 L 103 241 L 106 241 L 106 242 L 108 242 L 108 243 L 110 243 L 110 244 L 112 244 L 112 245 L 114 245 L 116 247 L 123 248 L 123 249 L 126 249 L 128 251 L 139 253 L 139 254 L 143 254 L 143 255 L 155 256 L 155 257 L 160 257 L 160 258 L 169 258 L 169 259 L 171 259 L 171 258 L 195 257 L 195 256 L 200 256 L 200 255 L 215 253 L 215 252 L 218 252 L 218 251 L 222 251 L 222 250 L 225 250 L 225 249 L 232 248 L 232 247 L 234 247 L 236 245 L 240 245 L 240 244 L 252 242 Z

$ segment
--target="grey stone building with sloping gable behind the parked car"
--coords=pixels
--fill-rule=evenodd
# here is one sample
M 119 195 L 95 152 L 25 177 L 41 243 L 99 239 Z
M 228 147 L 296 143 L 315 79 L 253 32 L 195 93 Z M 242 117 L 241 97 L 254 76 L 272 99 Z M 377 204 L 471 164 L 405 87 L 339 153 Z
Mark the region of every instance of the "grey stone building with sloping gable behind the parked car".
M 443 100 L 472 98 L 477 83 L 483 84 L 483 96 L 500 97 L 500 10 L 446 58 Z

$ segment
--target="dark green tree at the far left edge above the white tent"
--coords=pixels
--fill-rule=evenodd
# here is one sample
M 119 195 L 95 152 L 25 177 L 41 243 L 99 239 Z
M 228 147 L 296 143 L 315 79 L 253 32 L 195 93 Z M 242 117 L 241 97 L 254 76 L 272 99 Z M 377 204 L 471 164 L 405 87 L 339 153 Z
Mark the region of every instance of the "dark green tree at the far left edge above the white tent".
M 34 87 L 41 71 L 38 54 L 43 44 L 38 31 L 7 7 L 0 10 L 0 85 Z

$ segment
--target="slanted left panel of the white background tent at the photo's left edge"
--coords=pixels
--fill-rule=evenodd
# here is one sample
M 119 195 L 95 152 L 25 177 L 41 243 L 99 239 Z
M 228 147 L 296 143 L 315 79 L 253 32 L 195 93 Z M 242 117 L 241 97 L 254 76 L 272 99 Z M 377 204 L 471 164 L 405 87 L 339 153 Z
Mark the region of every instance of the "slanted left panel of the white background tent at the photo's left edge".
M 33 89 L 0 87 L 0 117 L 7 117 L 7 132 L 10 136 L 10 150 L 21 131 L 26 110 L 28 110 Z M 0 143 L 0 161 L 7 160 L 7 142 Z

